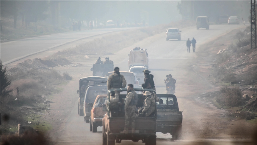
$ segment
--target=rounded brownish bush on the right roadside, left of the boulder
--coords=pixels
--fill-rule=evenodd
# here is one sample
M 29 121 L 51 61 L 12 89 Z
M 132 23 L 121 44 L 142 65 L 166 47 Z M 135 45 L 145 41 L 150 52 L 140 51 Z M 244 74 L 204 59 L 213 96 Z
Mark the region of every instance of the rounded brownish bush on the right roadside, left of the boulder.
M 242 93 L 237 87 L 221 87 L 217 102 L 229 107 L 239 106 L 242 104 Z

